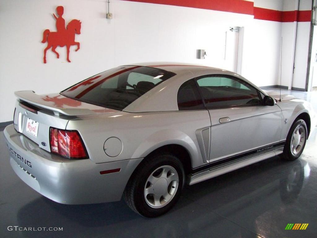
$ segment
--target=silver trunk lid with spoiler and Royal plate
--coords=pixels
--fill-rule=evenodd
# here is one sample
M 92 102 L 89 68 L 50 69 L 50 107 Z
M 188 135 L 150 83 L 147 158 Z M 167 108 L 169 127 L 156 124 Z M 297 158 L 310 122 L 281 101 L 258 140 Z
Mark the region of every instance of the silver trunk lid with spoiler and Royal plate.
M 72 119 L 118 112 L 60 94 L 37 95 L 29 90 L 15 92 L 15 95 L 18 98 L 14 114 L 15 129 L 49 152 L 50 127 L 66 129 L 68 121 Z

